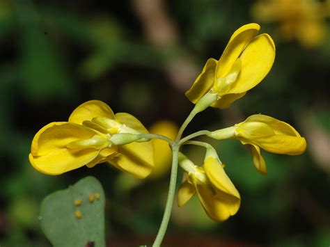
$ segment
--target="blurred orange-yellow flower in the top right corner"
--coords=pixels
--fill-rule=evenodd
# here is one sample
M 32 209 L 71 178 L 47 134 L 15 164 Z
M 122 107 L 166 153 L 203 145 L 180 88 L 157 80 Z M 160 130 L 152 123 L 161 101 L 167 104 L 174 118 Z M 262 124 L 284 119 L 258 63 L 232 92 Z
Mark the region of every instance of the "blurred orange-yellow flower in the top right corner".
M 329 14 L 330 2 L 316 0 L 260 0 L 251 9 L 258 22 L 275 22 L 283 40 L 297 39 L 307 48 L 324 41 Z

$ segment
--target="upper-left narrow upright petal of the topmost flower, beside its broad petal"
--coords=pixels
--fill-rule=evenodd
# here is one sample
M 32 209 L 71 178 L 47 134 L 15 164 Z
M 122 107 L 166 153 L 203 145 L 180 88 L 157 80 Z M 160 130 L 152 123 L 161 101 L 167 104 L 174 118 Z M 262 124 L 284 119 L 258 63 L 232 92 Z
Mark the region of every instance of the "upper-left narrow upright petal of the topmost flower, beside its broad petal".
M 216 77 L 226 77 L 232 69 L 235 61 L 242 54 L 246 45 L 249 45 L 253 37 L 258 34 L 260 26 L 256 23 L 241 26 L 231 36 L 226 49 L 223 51 L 216 68 Z M 239 92 L 242 93 L 242 92 Z

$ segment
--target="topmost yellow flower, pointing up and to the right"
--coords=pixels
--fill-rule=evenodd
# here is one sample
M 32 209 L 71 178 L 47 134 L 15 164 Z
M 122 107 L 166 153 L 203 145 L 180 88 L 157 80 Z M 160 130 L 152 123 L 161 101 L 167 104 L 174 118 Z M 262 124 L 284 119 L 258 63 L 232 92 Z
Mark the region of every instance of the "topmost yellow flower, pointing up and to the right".
M 207 60 L 201 74 L 186 92 L 196 104 L 207 93 L 217 95 L 211 106 L 225 109 L 255 87 L 272 68 L 275 45 L 267 33 L 258 34 L 256 23 L 241 26 L 231 36 L 219 61 Z

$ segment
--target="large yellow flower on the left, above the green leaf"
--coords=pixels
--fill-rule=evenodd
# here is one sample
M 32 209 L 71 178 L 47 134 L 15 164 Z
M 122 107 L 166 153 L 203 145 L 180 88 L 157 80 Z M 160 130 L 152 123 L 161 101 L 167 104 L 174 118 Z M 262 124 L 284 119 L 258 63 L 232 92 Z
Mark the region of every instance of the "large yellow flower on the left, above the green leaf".
M 51 122 L 34 136 L 29 160 L 36 170 L 59 175 L 81 166 L 102 162 L 131 173 L 148 176 L 153 168 L 151 141 L 113 145 L 118 133 L 148 133 L 141 122 L 128 113 L 116 113 L 104 102 L 91 100 L 75 109 L 68 122 Z

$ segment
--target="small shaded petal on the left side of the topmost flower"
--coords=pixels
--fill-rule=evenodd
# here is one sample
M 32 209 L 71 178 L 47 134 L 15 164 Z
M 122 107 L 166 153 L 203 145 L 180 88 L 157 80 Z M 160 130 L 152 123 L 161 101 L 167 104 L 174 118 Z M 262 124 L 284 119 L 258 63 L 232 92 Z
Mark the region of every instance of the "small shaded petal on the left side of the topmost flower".
M 215 68 L 217 67 L 217 63 L 218 61 L 214 58 L 209 58 L 206 61 L 201 74 L 198 75 L 194 84 L 186 92 L 186 96 L 191 102 L 198 102 L 198 100 L 201 99 L 201 97 L 203 97 L 203 95 L 205 95 L 212 88 L 214 83 L 214 72 Z

